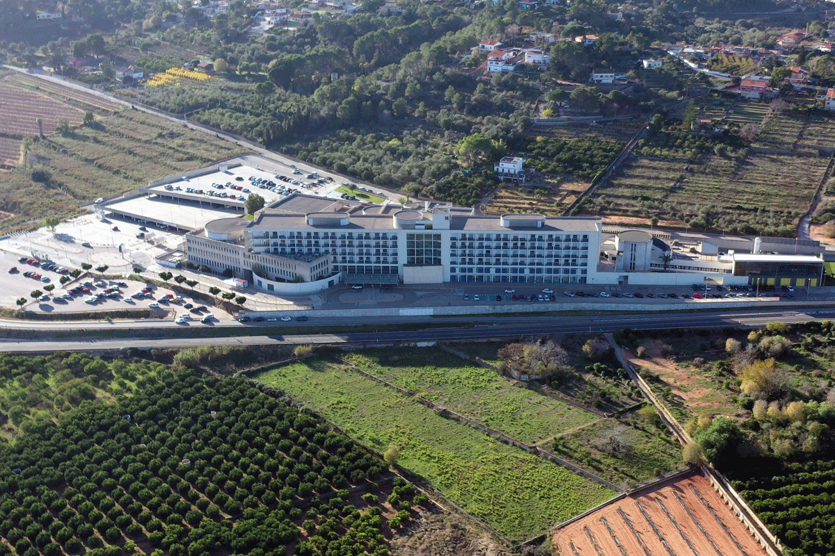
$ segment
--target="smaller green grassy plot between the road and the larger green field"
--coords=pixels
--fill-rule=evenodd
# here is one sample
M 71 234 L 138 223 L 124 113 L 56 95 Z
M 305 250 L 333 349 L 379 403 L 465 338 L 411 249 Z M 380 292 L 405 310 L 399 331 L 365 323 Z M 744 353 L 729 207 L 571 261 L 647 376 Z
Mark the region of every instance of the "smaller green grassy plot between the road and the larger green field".
M 345 359 L 524 443 L 594 421 L 595 414 L 509 383 L 496 371 L 438 348 L 373 349 Z

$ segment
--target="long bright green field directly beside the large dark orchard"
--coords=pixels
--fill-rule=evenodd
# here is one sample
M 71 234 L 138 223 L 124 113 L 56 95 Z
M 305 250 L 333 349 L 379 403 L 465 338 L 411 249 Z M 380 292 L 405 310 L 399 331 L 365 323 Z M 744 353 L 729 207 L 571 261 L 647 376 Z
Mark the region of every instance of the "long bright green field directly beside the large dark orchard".
M 290 394 L 378 451 L 396 446 L 398 464 L 509 538 L 529 538 L 613 495 L 554 463 L 443 418 L 331 358 L 306 359 L 256 380 Z

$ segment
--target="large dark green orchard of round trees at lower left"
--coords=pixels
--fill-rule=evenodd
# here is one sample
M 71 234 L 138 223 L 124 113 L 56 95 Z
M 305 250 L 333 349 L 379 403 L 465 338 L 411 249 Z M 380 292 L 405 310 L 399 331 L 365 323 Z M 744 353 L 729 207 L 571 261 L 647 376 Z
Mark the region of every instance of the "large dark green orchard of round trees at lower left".
M 3 446 L 0 553 L 382 556 L 412 504 L 428 503 L 349 438 L 243 380 L 75 355 L 16 361 L 5 370 L 18 380 L 68 371 L 135 392 L 80 403 L 58 424 L 34 418 Z

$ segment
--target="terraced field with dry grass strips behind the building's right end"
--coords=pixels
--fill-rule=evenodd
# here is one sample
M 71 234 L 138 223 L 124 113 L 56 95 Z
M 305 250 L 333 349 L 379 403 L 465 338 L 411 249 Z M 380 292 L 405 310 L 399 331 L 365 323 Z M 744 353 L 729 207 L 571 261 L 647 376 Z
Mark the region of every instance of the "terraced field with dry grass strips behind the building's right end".
M 632 156 L 585 210 L 647 223 L 657 216 L 681 228 L 786 236 L 807 212 L 828 162 L 752 152 L 704 153 L 695 163 Z

